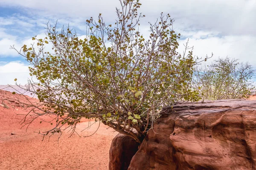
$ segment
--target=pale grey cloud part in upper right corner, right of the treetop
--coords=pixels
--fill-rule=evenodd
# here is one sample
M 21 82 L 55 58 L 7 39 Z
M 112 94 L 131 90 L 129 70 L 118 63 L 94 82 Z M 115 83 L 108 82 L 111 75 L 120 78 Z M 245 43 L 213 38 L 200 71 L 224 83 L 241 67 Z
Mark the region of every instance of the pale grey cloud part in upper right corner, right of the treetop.
M 161 11 L 169 13 L 176 20 L 175 26 L 185 30 L 256 35 L 255 0 L 143 0 L 142 3 L 146 16 L 155 18 Z

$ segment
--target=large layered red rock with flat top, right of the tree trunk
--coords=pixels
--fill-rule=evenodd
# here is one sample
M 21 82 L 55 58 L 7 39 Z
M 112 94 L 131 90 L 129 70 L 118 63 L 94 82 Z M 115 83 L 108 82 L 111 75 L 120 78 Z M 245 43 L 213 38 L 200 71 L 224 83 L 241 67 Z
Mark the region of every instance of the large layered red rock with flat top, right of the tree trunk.
M 256 101 L 166 107 L 129 170 L 256 170 Z

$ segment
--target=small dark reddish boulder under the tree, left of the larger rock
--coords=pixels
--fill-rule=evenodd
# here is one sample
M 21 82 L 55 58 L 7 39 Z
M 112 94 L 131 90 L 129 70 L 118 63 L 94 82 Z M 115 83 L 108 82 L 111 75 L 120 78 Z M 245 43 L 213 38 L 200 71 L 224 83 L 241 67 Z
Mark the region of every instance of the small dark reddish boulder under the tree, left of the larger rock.
M 109 150 L 109 170 L 127 170 L 139 143 L 129 136 L 116 135 Z

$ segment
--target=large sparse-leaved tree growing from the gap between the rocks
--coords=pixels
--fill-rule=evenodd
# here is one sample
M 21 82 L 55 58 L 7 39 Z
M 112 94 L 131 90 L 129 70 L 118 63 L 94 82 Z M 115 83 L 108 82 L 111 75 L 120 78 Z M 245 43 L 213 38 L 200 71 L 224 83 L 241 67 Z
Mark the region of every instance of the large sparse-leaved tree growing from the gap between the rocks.
M 162 13 L 150 23 L 146 39 L 139 32 L 145 17 L 137 12 L 141 3 L 119 1 L 116 22 L 106 24 L 102 14 L 91 17 L 84 40 L 69 27 L 59 33 L 47 24 L 47 37 L 32 37 L 31 47 L 16 50 L 38 80 L 29 80 L 28 90 L 41 102 L 31 105 L 32 113 L 55 116 L 55 128 L 44 135 L 61 132 L 65 124 L 74 132 L 85 117 L 141 142 L 163 106 L 200 99 L 190 88 L 198 60 L 187 44 L 184 54 L 178 54 L 180 34 L 172 29 L 170 15 Z M 49 44 L 52 51 L 45 51 Z

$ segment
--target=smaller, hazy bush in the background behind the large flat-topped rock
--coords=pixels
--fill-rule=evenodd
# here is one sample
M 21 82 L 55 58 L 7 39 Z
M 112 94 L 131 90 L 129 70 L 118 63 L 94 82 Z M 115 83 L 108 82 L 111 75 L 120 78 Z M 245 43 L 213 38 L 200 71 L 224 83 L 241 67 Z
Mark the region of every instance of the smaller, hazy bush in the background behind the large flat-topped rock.
M 238 59 L 218 58 L 209 66 L 197 68 L 194 72 L 194 87 L 203 99 L 243 99 L 254 89 L 255 70 L 248 62 Z

